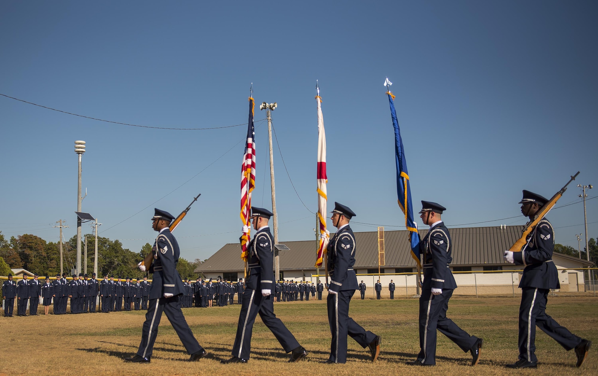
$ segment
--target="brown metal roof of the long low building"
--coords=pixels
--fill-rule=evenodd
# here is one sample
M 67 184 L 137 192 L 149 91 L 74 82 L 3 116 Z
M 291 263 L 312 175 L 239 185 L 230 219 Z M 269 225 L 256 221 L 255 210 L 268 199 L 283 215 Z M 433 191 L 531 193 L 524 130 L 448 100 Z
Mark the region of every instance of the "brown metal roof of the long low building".
M 505 227 L 461 227 L 450 230 L 453 242 L 453 262 L 451 265 L 503 265 L 503 252 L 521 236 L 523 226 Z M 428 230 L 420 230 L 425 236 Z M 413 267 L 415 261 L 411 257 L 407 230 L 385 231 L 385 266 Z M 366 269 L 378 266 L 377 232 L 356 232 L 357 243 L 355 267 Z M 315 269 L 316 241 L 282 242 L 290 251 L 280 251 L 280 270 Z M 197 267 L 196 273 L 233 272 L 244 269 L 240 258 L 241 246 L 227 244 L 212 257 Z M 560 254 L 559 254 L 560 255 Z M 563 257 L 568 257 L 562 255 Z M 578 259 L 575 259 L 579 261 Z M 583 260 L 581 260 L 583 261 Z M 587 261 L 586 261 L 587 262 Z

